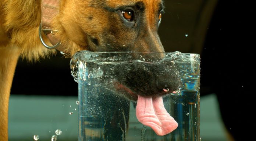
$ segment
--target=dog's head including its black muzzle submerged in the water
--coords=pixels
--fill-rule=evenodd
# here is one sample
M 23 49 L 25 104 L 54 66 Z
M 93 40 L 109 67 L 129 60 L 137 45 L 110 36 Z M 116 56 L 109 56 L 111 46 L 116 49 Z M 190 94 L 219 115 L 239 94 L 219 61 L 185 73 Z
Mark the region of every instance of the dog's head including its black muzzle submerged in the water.
M 157 33 L 163 7 L 162 0 L 64 0 L 54 25 L 59 30 L 57 36 L 61 42 L 75 46 L 67 46 L 66 52 L 71 54 L 78 50 L 164 52 Z M 153 56 L 145 53 L 142 57 L 159 59 L 164 57 L 164 53 Z M 156 75 L 163 71 L 161 65 L 165 64 L 126 65 L 133 69 L 122 66 L 126 72 L 117 76 L 120 78 L 119 88 L 142 96 L 166 94 L 165 88 L 173 92 L 181 86 L 177 68 L 174 64 L 166 64 L 173 66 L 175 71 Z

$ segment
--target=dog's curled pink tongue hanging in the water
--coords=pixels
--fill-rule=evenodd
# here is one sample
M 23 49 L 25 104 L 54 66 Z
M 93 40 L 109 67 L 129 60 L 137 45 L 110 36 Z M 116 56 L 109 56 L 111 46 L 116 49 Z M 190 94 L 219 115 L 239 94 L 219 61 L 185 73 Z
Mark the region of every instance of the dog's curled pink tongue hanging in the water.
M 145 126 L 151 127 L 157 135 L 164 136 L 178 127 L 178 123 L 164 108 L 163 98 L 138 95 L 136 117 Z

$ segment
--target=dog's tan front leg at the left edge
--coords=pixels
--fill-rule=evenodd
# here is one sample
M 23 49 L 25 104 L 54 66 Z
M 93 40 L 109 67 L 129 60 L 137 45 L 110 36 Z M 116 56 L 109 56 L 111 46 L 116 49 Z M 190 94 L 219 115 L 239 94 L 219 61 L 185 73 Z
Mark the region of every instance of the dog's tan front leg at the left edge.
M 0 141 L 8 141 L 8 105 L 19 51 L 0 45 Z

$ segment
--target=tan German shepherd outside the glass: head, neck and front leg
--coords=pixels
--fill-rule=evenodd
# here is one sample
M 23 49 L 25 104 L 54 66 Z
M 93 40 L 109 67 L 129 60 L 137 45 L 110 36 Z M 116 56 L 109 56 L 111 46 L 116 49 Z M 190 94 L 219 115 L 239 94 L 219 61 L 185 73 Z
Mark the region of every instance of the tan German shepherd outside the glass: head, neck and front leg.
M 60 0 L 51 27 L 63 45 L 57 49 L 70 56 L 80 50 L 164 52 L 157 33 L 163 9 L 162 0 Z M 0 1 L 0 141 L 8 140 L 8 101 L 18 58 L 38 60 L 55 52 L 41 44 L 40 22 L 41 0 Z

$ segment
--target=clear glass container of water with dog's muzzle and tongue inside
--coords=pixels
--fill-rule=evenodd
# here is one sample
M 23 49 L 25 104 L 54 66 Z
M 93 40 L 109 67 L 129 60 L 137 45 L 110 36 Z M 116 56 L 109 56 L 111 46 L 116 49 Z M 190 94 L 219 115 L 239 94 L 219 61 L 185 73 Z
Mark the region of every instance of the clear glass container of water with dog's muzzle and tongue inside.
M 200 56 L 80 51 L 79 141 L 199 141 Z

